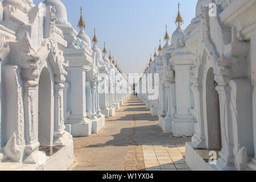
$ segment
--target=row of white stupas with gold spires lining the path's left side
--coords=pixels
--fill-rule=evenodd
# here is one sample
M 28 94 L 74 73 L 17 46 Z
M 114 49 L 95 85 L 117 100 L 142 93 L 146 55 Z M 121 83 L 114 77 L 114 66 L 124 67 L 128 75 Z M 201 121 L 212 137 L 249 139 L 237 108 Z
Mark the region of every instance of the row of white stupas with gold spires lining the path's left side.
M 72 135 L 97 133 L 128 97 L 82 15 L 79 27 L 60 0 L 0 2 L 0 170 L 67 169 Z

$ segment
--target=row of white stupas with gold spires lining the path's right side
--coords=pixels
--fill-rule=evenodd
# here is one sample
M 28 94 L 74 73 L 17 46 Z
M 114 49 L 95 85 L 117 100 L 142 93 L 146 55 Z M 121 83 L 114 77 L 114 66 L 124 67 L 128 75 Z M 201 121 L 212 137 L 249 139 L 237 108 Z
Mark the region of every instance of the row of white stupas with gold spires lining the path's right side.
M 142 92 L 154 78 L 148 73 L 158 73 L 159 97 L 139 97 L 165 133 L 192 137 L 185 152 L 191 169 L 255 170 L 256 1 L 199 0 L 185 30 L 180 11 L 175 23 L 171 44 L 166 32 L 140 80 Z

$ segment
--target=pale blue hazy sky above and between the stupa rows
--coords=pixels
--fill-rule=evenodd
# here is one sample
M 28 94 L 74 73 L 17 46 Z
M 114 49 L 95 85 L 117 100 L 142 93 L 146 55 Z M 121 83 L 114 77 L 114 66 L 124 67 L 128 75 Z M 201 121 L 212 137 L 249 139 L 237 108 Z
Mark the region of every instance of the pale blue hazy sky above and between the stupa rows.
M 61 0 L 67 8 L 68 21 L 77 29 L 80 6 L 85 20 L 86 34 L 92 39 L 96 28 L 98 47 L 112 51 L 124 73 L 142 73 L 159 46 L 168 26 L 168 34 L 175 31 L 177 3 L 184 19 L 183 28 L 195 17 L 197 0 Z M 34 0 L 37 4 L 40 0 Z

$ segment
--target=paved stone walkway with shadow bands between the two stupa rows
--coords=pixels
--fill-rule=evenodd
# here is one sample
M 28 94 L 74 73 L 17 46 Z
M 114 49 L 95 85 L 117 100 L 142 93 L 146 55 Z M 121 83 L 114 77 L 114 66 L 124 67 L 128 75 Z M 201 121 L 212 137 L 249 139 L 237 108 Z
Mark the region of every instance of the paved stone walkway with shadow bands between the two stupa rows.
M 191 138 L 164 134 L 158 118 L 135 96 L 130 96 L 114 117 L 106 118 L 98 134 L 73 140 L 75 162 L 69 170 L 189 170 L 184 155 L 185 142 Z

